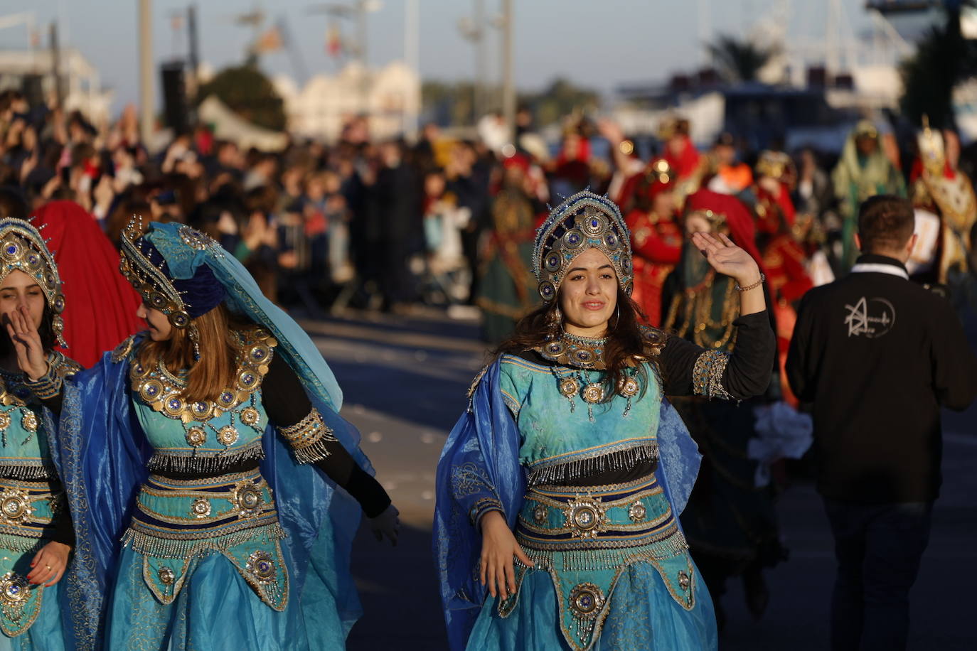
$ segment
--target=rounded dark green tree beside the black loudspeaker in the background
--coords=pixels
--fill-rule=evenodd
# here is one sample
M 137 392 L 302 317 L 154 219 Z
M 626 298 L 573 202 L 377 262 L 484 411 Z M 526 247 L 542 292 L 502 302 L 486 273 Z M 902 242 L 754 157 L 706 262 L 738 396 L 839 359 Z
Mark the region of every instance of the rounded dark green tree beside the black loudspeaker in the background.
M 248 122 L 275 131 L 285 129 L 284 102 L 256 65 L 245 63 L 224 68 L 200 85 L 194 102 L 199 105 L 211 95 Z

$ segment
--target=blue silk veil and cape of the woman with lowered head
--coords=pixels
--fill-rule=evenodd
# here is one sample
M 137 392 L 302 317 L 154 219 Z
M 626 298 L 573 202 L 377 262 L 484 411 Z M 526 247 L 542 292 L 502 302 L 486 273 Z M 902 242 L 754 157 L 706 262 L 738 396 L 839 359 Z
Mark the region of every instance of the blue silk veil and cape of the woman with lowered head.
M 361 468 L 372 473 L 359 447 L 360 433 L 338 414 L 342 393 L 319 349 L 262 295 L 233 256 L 194 239 L 194 234 L 181 224 L 153 223 L 146 236 L 175 277 L 191 277 L 200 264 L 213 270 L 227 290 L 226 305 L 274 335 L 276 353 L 299 377 L 325 423 Z M 127 361 L 114 362 L 106 353 L 96 366 L 68 380 L 58 435 L 52 437 L 52 456 L 64 481 L 77 539 L 74 570 L 64 580 L 70 603 L 68 632 L 77 649 L 103 643 L 106 590 L 114 580 L 119 539 L 147 475 L 151 451 L 131 405 L 128 370 Z M 292 560 L 285 614 L 304 620 L 292 630 L 304 629 L 310 648 L 327 648 L 330 640 L 345 638 L 361 614 L 349 570 L 361 509 L 319 468 L 296 464 L 273 427 L 266 430 L 263 444 L 261 470 L 276 496 L 280 524 L 288 534 L 281 543 L 285 557 Z M 338 611 L 338 617 L 325 617 L 325 607 Z M 339 631 L 326 630 L 337 621 Z

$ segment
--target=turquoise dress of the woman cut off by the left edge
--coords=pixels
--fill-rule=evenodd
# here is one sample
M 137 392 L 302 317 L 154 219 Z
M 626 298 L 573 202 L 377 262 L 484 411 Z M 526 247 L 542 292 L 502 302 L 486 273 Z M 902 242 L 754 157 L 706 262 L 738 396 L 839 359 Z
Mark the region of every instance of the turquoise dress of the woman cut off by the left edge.
M 80 370 L 60 352 L 48 361 L 59 384 Z M 0 650 L 58 651 L 65 648 L 63 584 L 38 586 L 26 576 L 49 542 L 71 544 L 71 521 L 33 386 L 0 371 Z

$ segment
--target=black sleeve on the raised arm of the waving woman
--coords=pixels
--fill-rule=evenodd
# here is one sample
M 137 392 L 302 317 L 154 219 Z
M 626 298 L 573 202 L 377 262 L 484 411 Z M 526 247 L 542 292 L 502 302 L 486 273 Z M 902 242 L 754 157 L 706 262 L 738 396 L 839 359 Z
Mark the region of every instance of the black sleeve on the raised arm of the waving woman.
M 737 340 L 728 357 L 679 337 L 668 338 L 658 358 L 665 394 L 746 400 L 767 390 L 777 357 L 777 338 L 770 327 L 770 316 L 766 310 L 754 312 L 741 316 L 733 324 L 737 328 Z M 721 387 L 703 390 L 696 375 L 708 375 L 712 370 L 719 372 Z M 723 391 L 728 395 L 723 395 Z

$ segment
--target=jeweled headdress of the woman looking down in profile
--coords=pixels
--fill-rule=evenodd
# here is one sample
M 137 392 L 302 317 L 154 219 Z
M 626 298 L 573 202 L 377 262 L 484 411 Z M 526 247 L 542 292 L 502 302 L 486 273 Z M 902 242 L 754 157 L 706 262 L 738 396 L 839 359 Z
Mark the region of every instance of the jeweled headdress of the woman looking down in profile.
M 206 235 L 181 227 L 181 237 L 192 250 L 219 245 Z M 143 233 L 142 218 L 134 217 L 122 232 L 119 271 L 132 283 L 147 305 L 169 317 L 177 328 L 205 314 L 224 300 L 224 287 L 206 264 L 196 267 L 190 278 L 175 278 L 169 264 L 152 243 L 152 231 Z

